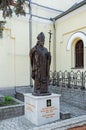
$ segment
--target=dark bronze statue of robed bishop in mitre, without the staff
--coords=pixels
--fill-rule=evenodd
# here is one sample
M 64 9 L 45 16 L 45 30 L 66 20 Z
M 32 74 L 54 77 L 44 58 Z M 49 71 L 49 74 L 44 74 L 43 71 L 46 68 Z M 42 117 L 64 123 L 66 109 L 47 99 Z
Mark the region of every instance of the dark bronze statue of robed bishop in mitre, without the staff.
M 30 50 L 32 79 L 34 80 L 33 95 L 50 95 L 48 91 L 51 55 L 44 47 L 45 36 L 41 32 L 37 36 L 37 44 Z

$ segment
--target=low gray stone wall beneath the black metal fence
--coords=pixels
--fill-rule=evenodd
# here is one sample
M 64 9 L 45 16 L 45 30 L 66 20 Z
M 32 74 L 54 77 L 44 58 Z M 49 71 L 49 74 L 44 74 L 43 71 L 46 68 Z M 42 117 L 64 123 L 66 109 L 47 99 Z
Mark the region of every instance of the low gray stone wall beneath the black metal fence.
M 62 86 L 50 86 L 50 91 L 61 94 L 61 101 L 86 110 L 86 90 L 82 90 L 80 88 L 67 88 Z

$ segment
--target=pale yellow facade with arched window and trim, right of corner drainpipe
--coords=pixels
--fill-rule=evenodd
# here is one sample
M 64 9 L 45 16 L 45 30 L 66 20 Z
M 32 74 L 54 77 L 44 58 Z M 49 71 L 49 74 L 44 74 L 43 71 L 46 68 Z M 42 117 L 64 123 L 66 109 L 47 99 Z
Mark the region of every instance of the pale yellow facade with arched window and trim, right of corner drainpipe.
M 56 71 L 86 70 L 86 1 L 55 18 Z

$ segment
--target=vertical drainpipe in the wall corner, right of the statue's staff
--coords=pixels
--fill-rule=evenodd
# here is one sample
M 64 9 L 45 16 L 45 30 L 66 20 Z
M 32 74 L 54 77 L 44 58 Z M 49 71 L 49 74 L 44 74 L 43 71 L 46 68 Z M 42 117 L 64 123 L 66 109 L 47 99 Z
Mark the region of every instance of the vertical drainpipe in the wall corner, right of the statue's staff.
M 56 70 L 56 26 L 53 19 L 53 71 Z

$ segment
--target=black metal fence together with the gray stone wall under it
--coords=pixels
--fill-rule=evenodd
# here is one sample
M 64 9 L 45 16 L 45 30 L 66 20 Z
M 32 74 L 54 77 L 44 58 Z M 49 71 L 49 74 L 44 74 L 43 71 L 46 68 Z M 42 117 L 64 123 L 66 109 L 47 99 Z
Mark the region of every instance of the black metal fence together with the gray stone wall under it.
M 50 91 L 61 94 L 61 101 L 86 110 L 86 71 L 50 72 Z

